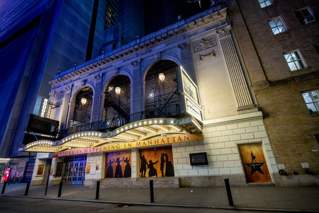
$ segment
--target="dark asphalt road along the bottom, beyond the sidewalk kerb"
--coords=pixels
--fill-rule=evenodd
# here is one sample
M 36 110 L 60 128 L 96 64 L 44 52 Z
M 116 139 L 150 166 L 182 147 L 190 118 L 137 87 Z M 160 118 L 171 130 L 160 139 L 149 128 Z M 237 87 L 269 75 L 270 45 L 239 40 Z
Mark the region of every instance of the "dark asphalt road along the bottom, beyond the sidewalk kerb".
M 0 197 L 0 212 L 257 212 L 225 209 L 200 209 L 200 208 L 181 208 L 167 206 L 122 206 L 119 204 L 98 203 L 98 202 L 80 202 L 80 201 L 63 201 L 51 199 L 36 199 L 22 197 Z

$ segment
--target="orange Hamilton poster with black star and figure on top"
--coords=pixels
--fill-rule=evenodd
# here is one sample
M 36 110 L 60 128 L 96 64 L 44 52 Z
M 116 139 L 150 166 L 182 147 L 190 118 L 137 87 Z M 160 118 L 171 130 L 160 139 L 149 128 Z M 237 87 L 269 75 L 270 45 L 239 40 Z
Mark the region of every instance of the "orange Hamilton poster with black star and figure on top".
M 247 183 L 271 182 L 261 143 L 238 145 Z

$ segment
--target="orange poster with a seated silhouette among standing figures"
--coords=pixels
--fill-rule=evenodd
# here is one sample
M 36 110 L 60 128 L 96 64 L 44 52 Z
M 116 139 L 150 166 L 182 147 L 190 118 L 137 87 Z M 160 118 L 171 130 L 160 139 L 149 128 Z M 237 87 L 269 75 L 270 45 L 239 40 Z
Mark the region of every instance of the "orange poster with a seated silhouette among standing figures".
M 174 177 L 171 146 L 145 148 L 138 151 L 139 177 Z

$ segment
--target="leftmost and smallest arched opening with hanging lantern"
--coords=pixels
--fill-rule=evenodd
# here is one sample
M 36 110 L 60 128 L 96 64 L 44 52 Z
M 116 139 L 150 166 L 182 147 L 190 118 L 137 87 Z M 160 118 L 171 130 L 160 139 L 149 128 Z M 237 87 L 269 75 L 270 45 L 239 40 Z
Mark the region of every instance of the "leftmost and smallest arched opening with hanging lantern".
M 70 119 L 70 126 L 91 122 L 93 90 L 91 87 L 81 89 L 76 98 L 73 116 Z

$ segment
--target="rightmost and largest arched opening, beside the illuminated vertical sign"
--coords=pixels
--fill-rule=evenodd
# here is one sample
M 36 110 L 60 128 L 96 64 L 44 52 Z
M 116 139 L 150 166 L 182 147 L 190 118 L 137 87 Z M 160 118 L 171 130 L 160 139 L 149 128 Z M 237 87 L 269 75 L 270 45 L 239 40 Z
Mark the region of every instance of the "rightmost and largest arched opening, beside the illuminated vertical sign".
M 146 118 L 179 117 L 176 69 L 175 62 L 160 60 L 148 70 L 145 76 Z

